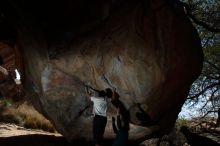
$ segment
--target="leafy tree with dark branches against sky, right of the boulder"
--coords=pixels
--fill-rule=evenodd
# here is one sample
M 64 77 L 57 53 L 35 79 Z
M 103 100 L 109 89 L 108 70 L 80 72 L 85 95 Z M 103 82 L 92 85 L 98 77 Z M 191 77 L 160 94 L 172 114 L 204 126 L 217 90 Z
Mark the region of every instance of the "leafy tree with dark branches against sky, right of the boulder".
M 199 106 L 202 117 L 218 113 L 220 126 L 220 1 L 183 0 L 179 4 L 197 27 L 204 52 L 202 73 L 192 85 L 186 104 Z

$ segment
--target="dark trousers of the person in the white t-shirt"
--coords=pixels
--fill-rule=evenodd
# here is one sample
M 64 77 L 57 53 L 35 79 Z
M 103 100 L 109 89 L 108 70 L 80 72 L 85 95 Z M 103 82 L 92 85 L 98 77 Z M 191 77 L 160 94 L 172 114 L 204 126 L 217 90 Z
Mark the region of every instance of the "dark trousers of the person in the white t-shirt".
M 107 117 L 95 115 L 93 119 L 93 141 L 94 144 L 102 144 Z

